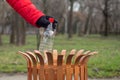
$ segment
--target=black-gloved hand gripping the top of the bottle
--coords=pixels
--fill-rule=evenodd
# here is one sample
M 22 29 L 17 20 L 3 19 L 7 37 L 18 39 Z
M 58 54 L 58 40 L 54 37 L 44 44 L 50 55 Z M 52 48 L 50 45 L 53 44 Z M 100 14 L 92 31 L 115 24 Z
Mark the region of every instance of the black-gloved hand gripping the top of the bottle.
M 51 16 L 42 16 L 42 17 L 40 17 L 40 18 L 37 20 L 37 22 L 36 22 L 37 26 L 38 26 L 38 27 L 47 28 L 47 26 L 50 24 L 49 18 L 53 18 L 53 17 L 51 17 Z M 54 20 L 54 22 L 53 22 L 53 30 L 56 28 L 56 24 L 57 24 L 57 23 L 58 23 L 58 22 L 57 22 L 56 20 Z

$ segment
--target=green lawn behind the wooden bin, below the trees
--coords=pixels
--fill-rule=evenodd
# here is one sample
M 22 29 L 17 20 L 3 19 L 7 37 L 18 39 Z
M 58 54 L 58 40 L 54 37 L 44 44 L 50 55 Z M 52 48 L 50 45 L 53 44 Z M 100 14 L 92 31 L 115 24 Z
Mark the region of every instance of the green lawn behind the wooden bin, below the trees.
M 9 44 L 9 37 L 2 36 L 3 45 L 0 46 L 0 72 L 26 72 L 26 61 L 22 56 L 16 54 L 17 51 L 33 51 L 36 49 L 36 37 L 27 36 L 25 46 L 15 46 Z M 88 62 L 89 77 L 116 77 L 120 76 L 120 38 L 101 37 L 90 35 L 86 37 L 76 37 L 68 40 L 65 36 L 55 37 L 54 49 L 60 52 L 66 49 L 98 51 L 99 54 L 90 58 Z

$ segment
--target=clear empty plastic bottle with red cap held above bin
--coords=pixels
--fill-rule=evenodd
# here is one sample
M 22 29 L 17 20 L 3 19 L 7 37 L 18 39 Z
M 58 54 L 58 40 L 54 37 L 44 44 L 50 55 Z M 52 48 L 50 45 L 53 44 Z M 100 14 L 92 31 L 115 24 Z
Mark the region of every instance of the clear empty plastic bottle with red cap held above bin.
M 49 19 L 50 24 L 48 25 L 47 29 L 43 32 L 39 51 L 44 52 L 48 51 L 51 52 L 53 49 L 54 37 L 55 37 L 55 30 L 53 30 L 53 18 Z

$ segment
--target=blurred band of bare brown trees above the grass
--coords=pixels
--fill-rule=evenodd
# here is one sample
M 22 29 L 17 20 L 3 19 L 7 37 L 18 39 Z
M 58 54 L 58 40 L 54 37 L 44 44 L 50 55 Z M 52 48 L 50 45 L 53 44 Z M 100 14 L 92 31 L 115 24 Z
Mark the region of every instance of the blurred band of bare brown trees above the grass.
M 32 0 L 46 15 L 55 17 L 58 34 L 84 36 L 120 34 L 120 0 Z M 25 44 L 25 35 L 36 33 L 6 2 L 0 1 L 0 45 L 2 34 L 10 35 L 10 43 Z

